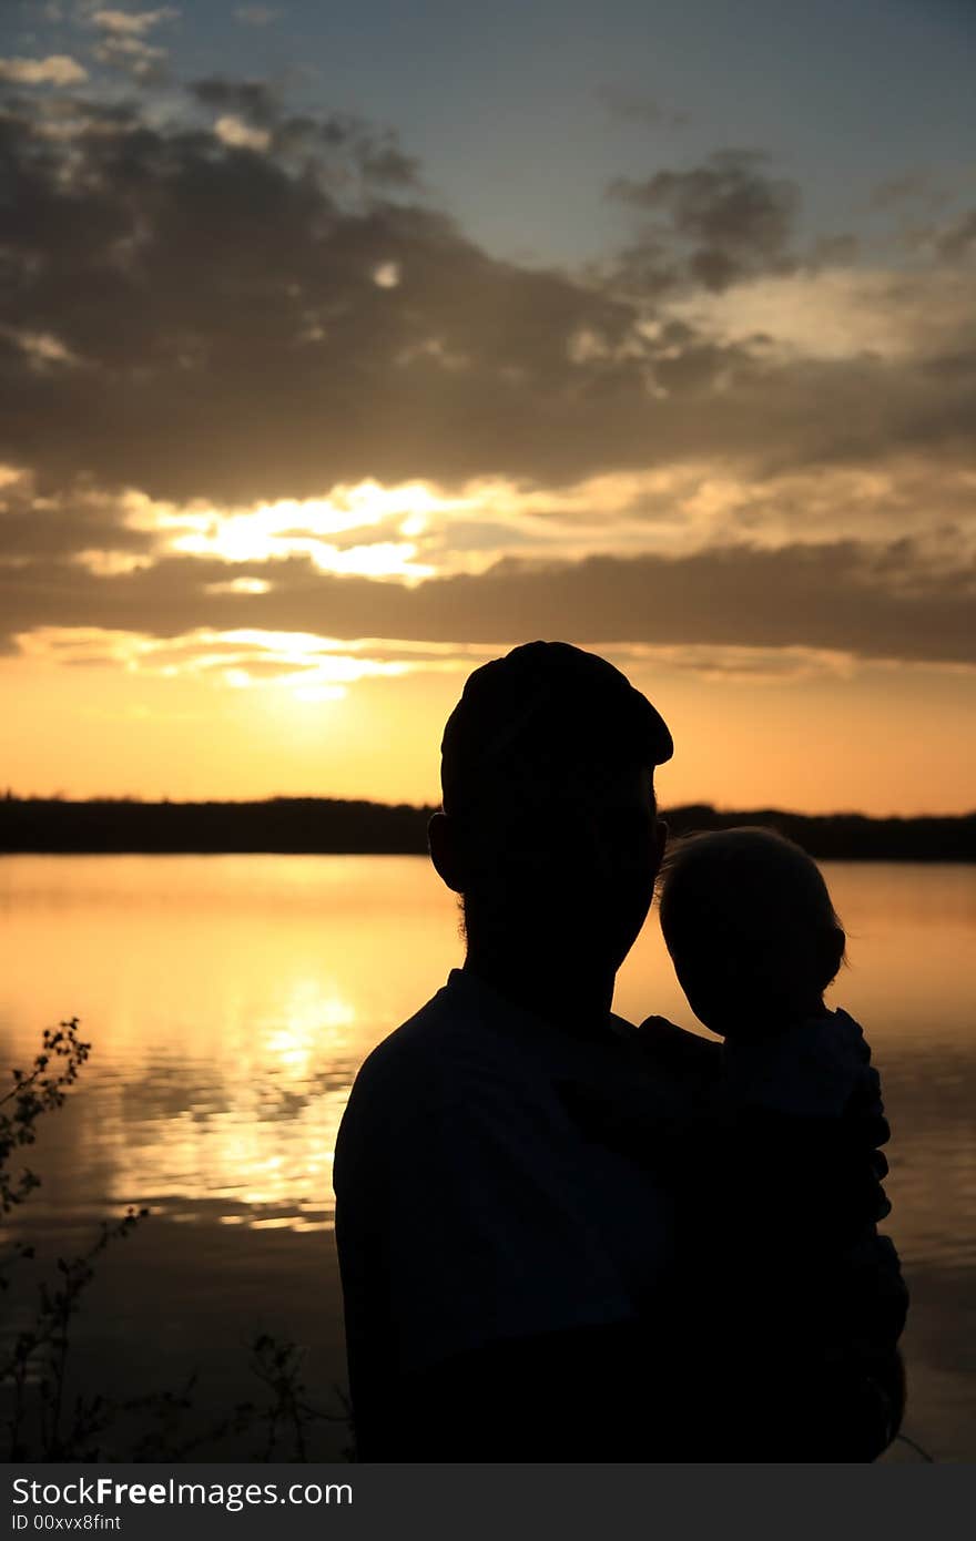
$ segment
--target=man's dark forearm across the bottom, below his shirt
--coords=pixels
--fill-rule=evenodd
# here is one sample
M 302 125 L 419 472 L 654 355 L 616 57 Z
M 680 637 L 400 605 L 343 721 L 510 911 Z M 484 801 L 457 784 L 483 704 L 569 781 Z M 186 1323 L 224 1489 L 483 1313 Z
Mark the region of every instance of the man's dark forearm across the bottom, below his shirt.
M 496 1342 L 406 1378 L 359 1459 L 870 1462 L 900 1427 L 894 1348 L 863 1375 L 825 1368 L 802 1338 L 769 1358 L 657 1327 Z

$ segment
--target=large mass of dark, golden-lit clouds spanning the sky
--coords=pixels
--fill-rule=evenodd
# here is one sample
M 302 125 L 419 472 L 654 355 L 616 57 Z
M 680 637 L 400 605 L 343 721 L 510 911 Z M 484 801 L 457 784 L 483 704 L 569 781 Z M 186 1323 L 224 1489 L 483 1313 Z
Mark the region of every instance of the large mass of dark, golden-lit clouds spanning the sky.
M 971 661 L 961 239 L 785 271 L 794 191 L 729 153 L 629 199 L 674 274 L 637 293 L 490 256 L 390 131 L 216 76 L 165 123 L 25 94 L 0 149 L 8 647 L 251 627 Z M 734 276 L 703 282 L 702 251 Z

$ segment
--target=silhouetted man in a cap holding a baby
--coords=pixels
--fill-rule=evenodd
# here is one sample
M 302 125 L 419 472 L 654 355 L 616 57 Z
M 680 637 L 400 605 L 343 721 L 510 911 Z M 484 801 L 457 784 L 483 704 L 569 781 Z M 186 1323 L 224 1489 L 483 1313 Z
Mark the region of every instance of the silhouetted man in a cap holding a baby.
M 364 1461 L 695 1459 L 745 1395 L 705 1364 L 715 1408 L 708 1384 L 689 1399 L 655 1310 L 666 1183 L 587 1137 L 566 1096 L 646 1076 L 611 1000 L 651 906 L 671 754 L 646 698 L 563 643 L 475 670 L 447 721 L 430 854 L 463 895 L 464 968 L 369 1056 L 336 1145 Z M 677 1028 L 665 1049 L 680 1116 L 688 1051 L 715 1049 Z

